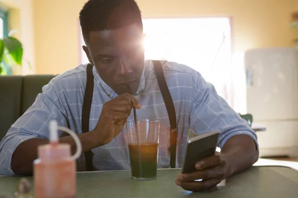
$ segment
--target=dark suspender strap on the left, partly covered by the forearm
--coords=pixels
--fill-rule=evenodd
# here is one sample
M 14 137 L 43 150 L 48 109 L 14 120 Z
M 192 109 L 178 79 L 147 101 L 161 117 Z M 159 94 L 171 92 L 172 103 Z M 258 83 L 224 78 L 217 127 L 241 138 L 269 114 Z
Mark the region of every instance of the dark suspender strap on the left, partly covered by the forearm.
M 87 65 L 87 84 L 85 89 L 84 101 L 82 106 L 82 133 L 89 132 L 89 119 L 90 119 L 90 110 L 93 97 L 93 88 L 94 88 L 94 76 L 92 73 L 93 65 Z M 92 152 L 88 150 L 85 154 L 86 168 L 87 171 L 92 171 Z

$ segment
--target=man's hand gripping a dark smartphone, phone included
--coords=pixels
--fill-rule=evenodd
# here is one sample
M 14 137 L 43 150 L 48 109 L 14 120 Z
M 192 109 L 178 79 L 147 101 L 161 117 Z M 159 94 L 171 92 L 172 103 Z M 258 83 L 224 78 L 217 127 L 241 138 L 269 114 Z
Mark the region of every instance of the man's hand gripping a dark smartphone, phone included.
M 220 131 L 212 131 L 187 141 L 184 163 L 176 185 L 187 191 L 204 191 L 229 176 L 227 158 L 223 153 L 216 152 L 219 135 Z

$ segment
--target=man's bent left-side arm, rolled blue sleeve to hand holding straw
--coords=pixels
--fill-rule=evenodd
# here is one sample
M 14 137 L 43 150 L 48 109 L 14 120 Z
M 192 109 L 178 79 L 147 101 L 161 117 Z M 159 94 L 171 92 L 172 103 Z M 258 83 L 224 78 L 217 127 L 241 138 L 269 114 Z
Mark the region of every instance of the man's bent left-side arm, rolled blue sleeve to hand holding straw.
M 67 79 L 65 79 L 67 80 Z M 57 120 L 59 126 L 68 127 L 68 115 L 65 104 L 72 103 L 69 99 L 80 101 L 81 93 L 64 95 L 67 89 L 63 87 L 59 77 L 43 87 L 32 106 L 11 126 L 6 136 L 0 142 L 0 175 L 31 175 L 32 162 L 37 158 L 37 147 L 47 144 L 49 141 L 49 121 Z M 65 83 L 75 86 L 75 83 Z M 76 89 L 76 87 L 68 87 Z M 76 101 L 77 103 L 77 101 Z M 102 111 L 95 128 L 87 133 L 79 134 L 82 144 L 82 152 L 108 144 L 123 129 L 132 108 L 140 108 L 139 101 L 132 95 L 123 94 L 111 99 L 103 105 Z M 73 115 L 80 117 L 80 115 Z M 80 122 L 79 120 L 77 122 Z M 77 127 L 80 123 L 76 123 Z M 72 130 L 80 133 L 80 128 L 73 126 Z M 62 132 L 59 131 L 59 135 Z M 74 140 L 70 137 L 62 137 L 60 143 L 71 145 L 75 151 Z

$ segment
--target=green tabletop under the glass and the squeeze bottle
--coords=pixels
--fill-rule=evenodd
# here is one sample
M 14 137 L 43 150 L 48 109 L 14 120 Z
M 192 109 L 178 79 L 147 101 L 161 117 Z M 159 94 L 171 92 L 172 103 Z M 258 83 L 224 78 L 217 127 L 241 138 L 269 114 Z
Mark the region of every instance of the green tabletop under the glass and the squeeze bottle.
M 140 182 L 130 171 L 77 173 L 76 198 L 298 198 L 298 171 L 288 167 L 251 167 L 225 186 L 192 193 L 176 186 L 181 169 L 157 171 L 157 179 Z M 0 195 L 13 198 L 20 177 L 0 177 Z M 32 181 L 32 177 L 28 177 Z

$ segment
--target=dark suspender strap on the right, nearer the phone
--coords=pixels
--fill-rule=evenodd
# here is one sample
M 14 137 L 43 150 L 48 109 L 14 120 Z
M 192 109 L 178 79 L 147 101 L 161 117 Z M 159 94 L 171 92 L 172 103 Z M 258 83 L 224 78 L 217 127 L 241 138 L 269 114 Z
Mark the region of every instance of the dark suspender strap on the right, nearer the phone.
M 171 168 L 175 168 L 176 166 L 176 144 L 177 144 L 177 121 L 176 121 L 176 112 L 173 103 L 173 99 L 169 92 L 169 89 L 166 85 L 166 81 L 164 78 L 162 66 L 159 60 L 152 60 L 153 67 L 155 70 L 156 79 L 158 82 L 158 86 L 164 100 L 166 110 L 170 120 L 170 165 Z

